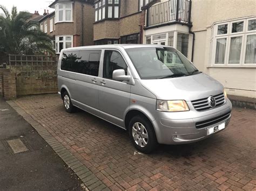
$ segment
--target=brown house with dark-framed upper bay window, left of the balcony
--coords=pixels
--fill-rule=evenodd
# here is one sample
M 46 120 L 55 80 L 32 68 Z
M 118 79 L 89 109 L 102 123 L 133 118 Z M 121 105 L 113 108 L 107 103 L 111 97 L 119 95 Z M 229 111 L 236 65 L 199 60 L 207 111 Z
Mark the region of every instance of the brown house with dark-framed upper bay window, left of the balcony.
M 141 8 L 149 2 L 150 0 L 95 0 L 95 45 L 142 44 L 144 12 Z

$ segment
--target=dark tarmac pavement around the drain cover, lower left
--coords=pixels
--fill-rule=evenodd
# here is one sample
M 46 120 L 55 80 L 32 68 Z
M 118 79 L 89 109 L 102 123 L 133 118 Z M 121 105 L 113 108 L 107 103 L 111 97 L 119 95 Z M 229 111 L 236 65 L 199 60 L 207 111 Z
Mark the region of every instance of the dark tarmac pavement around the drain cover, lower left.
M 29 151 L 14 154 L 6 140 Z M 82 190 L 77 176 L 14 109 L 0 98 L 0 190 Z

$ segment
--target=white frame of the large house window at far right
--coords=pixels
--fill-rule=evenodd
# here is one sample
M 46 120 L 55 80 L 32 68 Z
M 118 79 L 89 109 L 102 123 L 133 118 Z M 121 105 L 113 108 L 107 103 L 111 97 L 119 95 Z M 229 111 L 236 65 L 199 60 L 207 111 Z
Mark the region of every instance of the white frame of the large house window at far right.
M 256 67 L 256 63 L 245 63 L 245 54 L 246 54 L 246 42 L 248 35 L 256 35 L 256 30 L 248 31 L 248 21 L 256 19 L 256 17 L 243 18 L 243 19 L 233 19 L 229 22 L 216 23 L 212 26 L 212 41 L 211 41 L 211 56 L 210 56 L 210 66 L 211 67 Z M 237 22 L 244 22 L 244 27 L 241 32 L 232 33 L 232 24 Z M 218 26 L 227 24 L 227 33 L 226 34 L 217 34 Z M 241 53 L 240 53 L 240 62 L 239 63 L 228 63 L 230 56 L 230 44 L 232 37 L 242 37 L 241 41 Z M 225 60 L 224 63 L 215 63 L 216 56 L 216 46 L 217 39 L 226 38 L 226 49 L 225 49 Z

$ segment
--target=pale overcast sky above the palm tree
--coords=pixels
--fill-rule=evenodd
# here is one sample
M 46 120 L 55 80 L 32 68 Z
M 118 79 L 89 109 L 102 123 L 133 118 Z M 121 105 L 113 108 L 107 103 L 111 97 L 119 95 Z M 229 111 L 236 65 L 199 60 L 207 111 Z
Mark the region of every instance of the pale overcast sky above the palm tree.
M 34 13 L 38 11 L 40 15 L 43 15 L 44 9 L 48 9 L 49 12 L 54 11 L 48 6 L 54 0 L 0 0 L 0 5 L 4 5 L 11 12 L 12 6 L 17 6 L 18 11 L 28 11 Z M 0 14 L 2 10 L 0 10 Z

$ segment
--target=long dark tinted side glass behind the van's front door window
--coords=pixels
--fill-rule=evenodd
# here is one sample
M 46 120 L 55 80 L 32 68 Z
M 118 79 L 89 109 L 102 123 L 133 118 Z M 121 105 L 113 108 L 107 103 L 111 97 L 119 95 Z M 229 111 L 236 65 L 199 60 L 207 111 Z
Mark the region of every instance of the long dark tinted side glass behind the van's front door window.
M 64 52 L 61 69 L 98 76 L 100 53 L 99 50 Z

